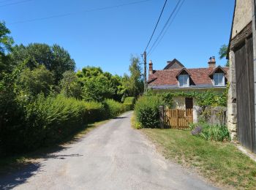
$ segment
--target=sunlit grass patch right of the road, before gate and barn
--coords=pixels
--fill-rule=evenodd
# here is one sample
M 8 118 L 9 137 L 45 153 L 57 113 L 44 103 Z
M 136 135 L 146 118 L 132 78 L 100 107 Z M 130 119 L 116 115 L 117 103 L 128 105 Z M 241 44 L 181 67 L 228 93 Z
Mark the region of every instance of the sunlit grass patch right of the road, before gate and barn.
M 236 189 L 256 189 L 256 162 L 230 142 L 206 141 L 189 131 L 142 129 L 162 154 L 195 168 L 214 183 Z

